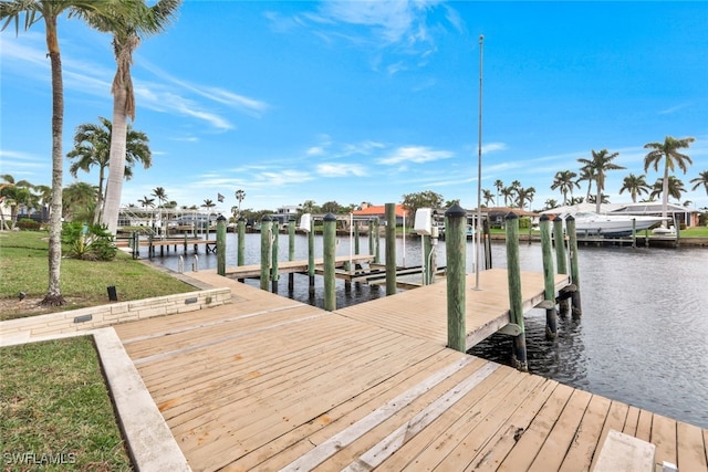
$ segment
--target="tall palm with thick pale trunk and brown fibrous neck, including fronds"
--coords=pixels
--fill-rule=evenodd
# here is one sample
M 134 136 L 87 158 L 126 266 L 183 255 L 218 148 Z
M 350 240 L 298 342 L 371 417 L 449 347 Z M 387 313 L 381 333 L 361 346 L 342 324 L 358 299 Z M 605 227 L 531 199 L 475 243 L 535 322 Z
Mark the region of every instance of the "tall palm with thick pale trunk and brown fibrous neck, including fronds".
M 123 192 L 123 172 L 125 169 L 125 150 L 127 117 L 135 120 L 135 94 L 131 77 L 133 52 L 140 42 L 140 36 L 163 31 L 181 3 L 181 0 L 159 0 L 153 7 L 138 1 L 136 14 L 124 15 L 118 21 L 106 22 L 101 17 L 90 17 L 88 21 L 97 30 L 113 34 L 113 52 L 117 70 L 113 77 L 113 134 L 111 135 L 110 172 L 104 203 L 103 222 L 108 232 L 115 233 L 121 210 Z

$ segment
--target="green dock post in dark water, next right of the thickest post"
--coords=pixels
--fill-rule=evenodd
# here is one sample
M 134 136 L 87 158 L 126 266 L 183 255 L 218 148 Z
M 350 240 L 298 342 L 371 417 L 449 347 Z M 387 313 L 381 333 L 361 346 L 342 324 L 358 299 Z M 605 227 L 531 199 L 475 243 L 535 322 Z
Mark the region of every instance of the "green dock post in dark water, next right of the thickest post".
M 519 264 L 519 217 L 507 214 L 507 274 L 509 277 L 509 315 L 511 323 L 519 326 L 521 333 L 513 337 L 513 365 L 522 371 L 529 371 L 527 361 L 527 335 L 523 328 L 523 304 L 521 300 L 521 266 Z

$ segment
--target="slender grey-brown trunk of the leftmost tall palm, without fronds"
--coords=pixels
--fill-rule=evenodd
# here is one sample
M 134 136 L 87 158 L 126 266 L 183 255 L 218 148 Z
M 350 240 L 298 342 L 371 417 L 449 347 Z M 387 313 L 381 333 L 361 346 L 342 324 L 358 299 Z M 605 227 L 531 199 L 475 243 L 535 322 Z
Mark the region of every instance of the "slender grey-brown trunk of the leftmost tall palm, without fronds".
M 64 84 L 62 61 L 56 39 L 56 18 L 44 18 L 46 24 L 46 46 L 52 67 L 52 206 L 49 225 L 49 286 L 41 304 L 63 305 L 60 277 L 62 261 L 62 130 L 64 125 Z

